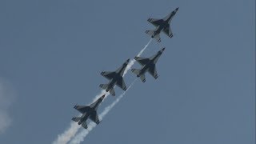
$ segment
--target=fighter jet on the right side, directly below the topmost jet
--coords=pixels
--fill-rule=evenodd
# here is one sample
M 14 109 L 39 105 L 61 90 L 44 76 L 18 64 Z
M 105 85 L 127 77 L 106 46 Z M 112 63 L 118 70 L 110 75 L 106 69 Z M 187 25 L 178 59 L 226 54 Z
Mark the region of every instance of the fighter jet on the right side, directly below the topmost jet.
M 163 50 L 165 48 L 162 48 L 162 50 L 159 50 L 157 54 L 154 54 L 150 58 L 142 58 L 142 57 L 135 57 L 134 59 L 142 65 L 142 68 L 140 70 L 138 69 L 131 69 L 131 71 L 137 75 L 137 77 L 140 77 L 142 82 L 146 82 L 145 73 L 148 71 L 155 79 L 158 78 L 158 73 L 155 68 L 155 63 L 158 62 L 158 58 L 161 56 Z

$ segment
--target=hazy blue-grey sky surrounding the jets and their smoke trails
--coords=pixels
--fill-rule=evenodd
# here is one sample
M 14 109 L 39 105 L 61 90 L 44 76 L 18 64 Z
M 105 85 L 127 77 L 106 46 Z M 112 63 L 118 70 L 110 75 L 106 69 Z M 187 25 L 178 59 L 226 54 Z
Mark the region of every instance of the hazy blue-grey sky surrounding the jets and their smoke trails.
M 53 142 L 107 82 L 100 72 L 149 42 L 146 19 L 176 7 L 174 37 L 142 54 L 166 47 L 160 77 L 137 81 L 83 143 L 254 144 L 254 0 L 0 1 L 0 143 Z

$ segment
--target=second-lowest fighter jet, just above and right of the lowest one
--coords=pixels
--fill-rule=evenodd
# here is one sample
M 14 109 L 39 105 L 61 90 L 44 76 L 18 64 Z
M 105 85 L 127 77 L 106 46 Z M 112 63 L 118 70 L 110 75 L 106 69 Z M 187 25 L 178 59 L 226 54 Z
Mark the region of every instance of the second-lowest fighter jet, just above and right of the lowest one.
M 110 94 L 113 96 L 114 93 L 114 86 L 119 86 L 122 90 L 126 91 L 126 83 L 124 82 L 122 76 L 124 71 L 126 70 L 126 66 L 128 65 L 130 59 L 127 59 L 125 63 L 122 64 L 121 67 L 118 68 L 118 70 L 115 70 L 113 72 L 110 71 L 102 71 L 102 76 L 109 79 L 110 82 L 108 84 L 100 84 L 99 87 L 106 90 L 106 92 L 110 91 Z

